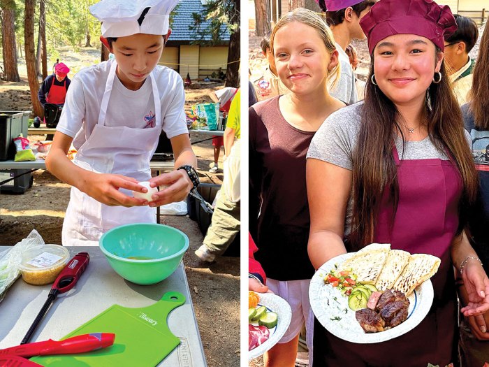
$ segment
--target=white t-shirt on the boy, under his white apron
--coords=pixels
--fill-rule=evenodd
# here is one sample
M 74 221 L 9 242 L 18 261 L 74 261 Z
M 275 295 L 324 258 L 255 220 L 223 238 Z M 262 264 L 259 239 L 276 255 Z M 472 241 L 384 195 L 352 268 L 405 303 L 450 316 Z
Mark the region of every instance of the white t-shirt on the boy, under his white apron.
M 98 113 L 112 60 L 89 66 L 76 73 L 66 94 L 57 131 L 74 138 L 78 150 L 87 141 L 98 121 Z M 165 66 L 153 71 L 160 98 L 161 122 L 168 138 L 188 134 L 185 120 L 185 92 L 180 75 Z M 105 126 L 154 127 L 154 99 L 151 78 L 138 90 L 130 90 L 114 78 L 105 117 Z

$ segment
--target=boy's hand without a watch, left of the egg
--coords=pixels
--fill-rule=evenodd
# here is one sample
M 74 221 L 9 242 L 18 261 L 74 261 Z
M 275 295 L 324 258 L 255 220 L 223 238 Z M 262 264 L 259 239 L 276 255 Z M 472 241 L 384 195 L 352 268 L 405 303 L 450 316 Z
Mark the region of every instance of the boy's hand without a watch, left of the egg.
M 92 196 L 96 201 L 108 206 L 146 206 L 145 199 L 136 199 L 119 192 L 119 188 L 137 192 L 147 192 L 145 187 L 138 185 L 138 180 L 124 175 L 113 175 L 110 173 L 95 173 L 87 171 L 83 185 L 80 187 L 82 192 Z

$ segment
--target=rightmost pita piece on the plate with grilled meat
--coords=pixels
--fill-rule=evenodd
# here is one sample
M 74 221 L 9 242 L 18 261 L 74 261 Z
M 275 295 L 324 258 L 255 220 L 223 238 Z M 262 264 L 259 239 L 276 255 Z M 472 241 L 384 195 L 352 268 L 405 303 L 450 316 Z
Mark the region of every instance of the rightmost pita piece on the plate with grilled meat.
M 394 283 L 392 289 L 409 296 L 418 285 L 430 279 L 438 271 L 440 259 L 428 254 L 412 254 L 407 266 Z

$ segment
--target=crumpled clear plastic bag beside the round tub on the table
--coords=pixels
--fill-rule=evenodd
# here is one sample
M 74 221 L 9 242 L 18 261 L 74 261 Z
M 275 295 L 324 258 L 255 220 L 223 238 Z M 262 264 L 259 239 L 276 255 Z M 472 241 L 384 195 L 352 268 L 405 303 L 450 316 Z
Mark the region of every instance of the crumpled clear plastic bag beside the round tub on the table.
M 44 245 L 41 235 L 33 229 L 27 238 L 21 240 L 17 245 L 0 252 L 0 302 L 5 297 L 8 287 L 13 285 L 19 278 L 19 264 L 22 261 L 22 254 L 25 250 Z

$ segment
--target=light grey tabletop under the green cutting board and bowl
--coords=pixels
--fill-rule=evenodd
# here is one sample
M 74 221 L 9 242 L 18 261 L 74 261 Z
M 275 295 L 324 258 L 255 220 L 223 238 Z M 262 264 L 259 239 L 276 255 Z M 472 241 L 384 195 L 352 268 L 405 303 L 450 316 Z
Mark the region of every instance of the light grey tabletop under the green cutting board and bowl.
M 8 248 L 0 246 L 0 252 Z M 56 298 L 34 332 L 31 343 L 48 339 L 59 340 L 114 304 L 141 308 L 159 301 L 166 292 L 180 292 L 186 301 L 170 312 L 167 320 L 170 331 L 180 339 L 180 345 L 158 366 L 207 366 L 182 263 L 175 273 L 156 285 L 136 285 L 112 270 L 98 246 L 66 248 L 70 257 L 78 252 L 88 252 L 89 265 L 75 287 Z M 8 289 L 0 307 L 0 349 L 20 344 L 48 299 L 50 289 L 51 285 L 29 285 L 22 279 Z M 110 333 L 110 330 L 104 332 Z

